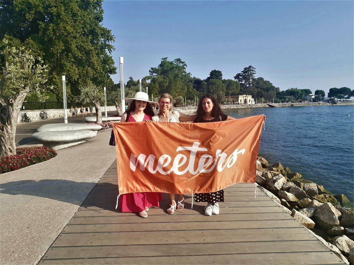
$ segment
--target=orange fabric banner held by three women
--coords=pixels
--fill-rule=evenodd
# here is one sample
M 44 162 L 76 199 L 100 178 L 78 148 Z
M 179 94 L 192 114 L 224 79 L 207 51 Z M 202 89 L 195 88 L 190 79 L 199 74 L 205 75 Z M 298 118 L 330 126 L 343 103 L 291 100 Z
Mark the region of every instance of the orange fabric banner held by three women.
M 264 119 L 115 123 L 119 193 L 216 192 L 254 183 Z

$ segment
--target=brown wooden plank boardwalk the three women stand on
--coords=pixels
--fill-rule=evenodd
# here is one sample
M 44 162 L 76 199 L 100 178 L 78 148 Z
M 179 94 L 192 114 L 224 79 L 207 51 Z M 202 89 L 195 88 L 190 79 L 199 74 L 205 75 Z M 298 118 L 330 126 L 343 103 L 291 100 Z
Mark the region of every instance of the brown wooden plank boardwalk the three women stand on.
M 253 184 L 225 189 L 220 214 L 187 196 L 185 209 L 148 218 L 114 209 L 116 162 L 38 264 L 344 264 Z

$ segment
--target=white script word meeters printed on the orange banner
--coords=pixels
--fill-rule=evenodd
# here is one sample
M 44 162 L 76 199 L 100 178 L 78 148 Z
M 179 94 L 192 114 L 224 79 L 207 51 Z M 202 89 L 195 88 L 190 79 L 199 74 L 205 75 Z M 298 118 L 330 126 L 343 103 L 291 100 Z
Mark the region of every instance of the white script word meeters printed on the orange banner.
M 164 171 L 164 167 L 167 167 L 171 163 L 171 157 L 167 154 L 161 155 L 161 157 L 158 159 L 157 165 L 154 169 L 154 164 L 155 164 L 155 155 L 150 154 L 148 157 L 146 157 L 145 154 L 139 154 L 138 158 L 136 155 L 131 154 L 130 155 L 130 169 L 132 171 L 135 171 L 138 164 L 139 164 L 139 169 L 142 171 L 145 171 L 145 168 L 147 167 L 148 171 L 152 174 L 155 174 L 156 172 L 159 172 L 162 175 L 168 175 L 171 172 L 175 173 L 176 175 L 183 175 L 187 171 L 191 173 L 192 175 L 196 175 L 199 172 L 200 173 L 208 173 L 212 171 L 215 166 L 219 172 L 223 171 L 225 167 L 232 167 L 236 160 L 237 160 L 237 155 L 238 154 L 244 154 L 246 149 L 236 149 L 230 156 L 227 158 L 227 154 L 222 152 L 222 150 L 217 149 L 215 158 L 213 158 L 210 154 L 203 154 L 200 156 L 199 161 L 198 161 L 198 167 L 196 170 L 195 168 L 195 158 L 196 154 L 199 151 L 208 151 L 207 148 L 204 147 L 199 147 L 200 143 L 194 142 L 191 147 L 189 146 L 180 146 L 177 147 L 176 152 L 180 151 L 190 151 L 190 156 L 189 156 L 189 163 L 188 166 L 180 171 L 179 168 L 185 165 L 187 162 L 187 156 L 184 154 L 177 154 L 175 159 L 172 162 L 172 167 L 170 170 Z M 226 160 L 226 161 L 225 161 Z

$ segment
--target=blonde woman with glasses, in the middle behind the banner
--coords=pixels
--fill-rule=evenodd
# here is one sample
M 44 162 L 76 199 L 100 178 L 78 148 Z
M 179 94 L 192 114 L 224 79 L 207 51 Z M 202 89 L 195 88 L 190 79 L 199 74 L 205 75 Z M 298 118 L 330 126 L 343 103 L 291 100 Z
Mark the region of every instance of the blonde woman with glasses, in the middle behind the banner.
M 172 110 L 172 96 L 167 93 L 160 95 L 158 101 L 159 112 L 156 116 L 152 117 L 152 120 L 146 120 L 146 122 L 190 122 L 196 118 L 196 115 L 185 115 L 176 110 Z M 176 204 L 176 194 L 170 194 L 170 208 L 167 209 L 168 214 L 173 214 L 175 210 L 181 210 L 184 208 L 184 196 L 178 194 L 178 202 Z

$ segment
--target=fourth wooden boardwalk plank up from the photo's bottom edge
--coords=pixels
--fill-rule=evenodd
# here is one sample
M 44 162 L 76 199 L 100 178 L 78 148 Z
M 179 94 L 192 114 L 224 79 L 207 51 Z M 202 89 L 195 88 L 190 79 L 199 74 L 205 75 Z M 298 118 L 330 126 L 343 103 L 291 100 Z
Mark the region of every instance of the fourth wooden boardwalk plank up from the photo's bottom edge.
M 212 217 L 211 217 L 212 220 Z M 161 231 L 161 230 L 198 230 L 198 229 L 250 229 L 250 228 L 278 228 L 278 227 L 298 227 L 300 225 L 296 220 L 255 220 L 255 221 L 206 221 L 190 222 L 188 226 L 183 222 L 175 223 L 137 223 L 126 224 L 68 224 L 62 233 L 75 232 L 121 232 L 121 231 Z

